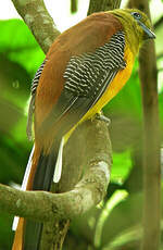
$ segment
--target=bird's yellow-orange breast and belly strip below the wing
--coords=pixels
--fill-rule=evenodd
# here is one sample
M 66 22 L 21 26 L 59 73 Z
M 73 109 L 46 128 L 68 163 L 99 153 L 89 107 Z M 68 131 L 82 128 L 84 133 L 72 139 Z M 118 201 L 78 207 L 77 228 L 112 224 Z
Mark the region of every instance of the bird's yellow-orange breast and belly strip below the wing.
M 134 55 L 126 46 L 124 51 L 124 60 L 126 62 L 126 67 L 120 71 L 114 79 L 109 84 L 103 96 L 99 101 L 84 115 L 84 117 L 65 135 L 65 142 L 71 136 L 72 132 L 84 121 L 91 118 L 95 114 L 99 113 L 101 109 L 122 89 L 130 77 L 133 65 L 134 65 Z

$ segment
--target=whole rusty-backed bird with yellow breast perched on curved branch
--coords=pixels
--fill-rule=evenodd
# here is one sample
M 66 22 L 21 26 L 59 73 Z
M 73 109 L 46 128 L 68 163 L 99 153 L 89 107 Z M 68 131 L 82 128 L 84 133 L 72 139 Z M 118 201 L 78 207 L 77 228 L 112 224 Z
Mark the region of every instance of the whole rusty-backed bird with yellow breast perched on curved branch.
M 24 190 L 49 191 L 60 180 L 64 145 L 127 83 L 141 45 L 155 38 L 151 28 L 143 12 L 115 9 L 87 16 L 54 40 L 32 84 L 35 145 Z M 20 218 L 12 250 L 39 250 L 41 232 L 41 223 Z

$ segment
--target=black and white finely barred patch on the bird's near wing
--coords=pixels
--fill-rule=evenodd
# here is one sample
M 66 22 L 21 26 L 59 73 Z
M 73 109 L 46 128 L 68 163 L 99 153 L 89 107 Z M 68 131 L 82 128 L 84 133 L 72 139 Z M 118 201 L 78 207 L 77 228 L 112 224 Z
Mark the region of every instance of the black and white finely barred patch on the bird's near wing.
M 126 66 L 124 41 L 124 33 L 118 32 L 95 53 L 72 57 L 64 74 L 65 89 L 78 97 L 100 98 L 115 74 Z

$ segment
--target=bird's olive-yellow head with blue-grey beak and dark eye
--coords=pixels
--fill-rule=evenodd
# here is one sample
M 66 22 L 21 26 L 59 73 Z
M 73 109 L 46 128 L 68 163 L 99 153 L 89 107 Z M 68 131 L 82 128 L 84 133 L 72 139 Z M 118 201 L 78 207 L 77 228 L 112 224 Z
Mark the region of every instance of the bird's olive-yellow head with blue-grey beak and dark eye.
M 154 33 L 151 30 L 151 22 L 142 11 L 137 9 L 117 9 L 110 13 L 121 21 L 126 40 L 135 52 L 138 52 L 143 40 L 155 38 Z

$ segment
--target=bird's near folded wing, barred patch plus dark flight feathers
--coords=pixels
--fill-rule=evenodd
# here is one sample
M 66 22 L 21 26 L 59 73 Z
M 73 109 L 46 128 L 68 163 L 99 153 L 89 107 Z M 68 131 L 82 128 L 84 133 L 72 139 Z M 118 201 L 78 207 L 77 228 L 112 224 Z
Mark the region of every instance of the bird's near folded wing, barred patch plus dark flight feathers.
M 125 35 L 120 30 L 95 52 L 72 57 L 58 102 L 39 127 L 65 135 L 96 104 L 118 71 L 125 68 Z M 118 83 L 117 83 L 118 84 Z

